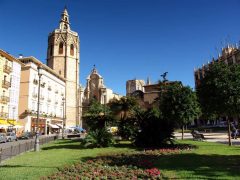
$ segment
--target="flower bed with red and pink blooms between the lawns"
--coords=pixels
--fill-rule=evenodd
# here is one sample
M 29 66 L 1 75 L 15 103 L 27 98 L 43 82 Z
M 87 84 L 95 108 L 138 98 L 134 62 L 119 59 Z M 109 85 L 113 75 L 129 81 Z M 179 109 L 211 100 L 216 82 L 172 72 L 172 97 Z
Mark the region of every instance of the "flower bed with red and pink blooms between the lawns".
M 155 149 L 128 154 L 108 154 L 59 169 L 46 179 L 162 179 L 157 157 L 181 153 L 180 149 Z

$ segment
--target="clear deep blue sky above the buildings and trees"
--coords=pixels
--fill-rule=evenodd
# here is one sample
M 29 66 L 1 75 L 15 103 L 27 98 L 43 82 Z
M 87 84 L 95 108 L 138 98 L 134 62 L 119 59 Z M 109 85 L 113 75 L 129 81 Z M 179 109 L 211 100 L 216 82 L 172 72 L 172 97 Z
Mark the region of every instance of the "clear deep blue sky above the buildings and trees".
M 0 0 L 0 48 L 46 62 L 48 34 L 67 6 L 81 41 L 80 83 L 93 65 L 107 87 L 150 77 L 194 87 L 193 68 L 240 40 L 238 0 Z

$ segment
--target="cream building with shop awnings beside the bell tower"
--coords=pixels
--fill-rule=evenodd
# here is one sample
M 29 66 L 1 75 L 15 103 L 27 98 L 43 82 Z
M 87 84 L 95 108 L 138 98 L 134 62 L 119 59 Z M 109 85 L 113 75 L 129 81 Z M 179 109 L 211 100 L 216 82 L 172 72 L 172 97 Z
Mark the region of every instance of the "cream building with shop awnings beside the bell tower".
M 39 96 L 40 132 L 59 132 L 64 123 L 66 80 L 34 57 L 19 60 L 24 63 L 19 98 L 19 118 L 25 127 L 24 131 L 36 131 Z M 41 68 L 40 80 L 38 67 Z

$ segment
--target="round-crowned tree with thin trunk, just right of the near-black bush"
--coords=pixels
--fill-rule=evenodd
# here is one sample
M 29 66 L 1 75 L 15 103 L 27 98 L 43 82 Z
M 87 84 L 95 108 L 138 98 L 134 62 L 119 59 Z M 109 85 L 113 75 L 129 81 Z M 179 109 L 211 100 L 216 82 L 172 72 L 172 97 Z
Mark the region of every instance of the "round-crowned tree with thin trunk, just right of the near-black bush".
M 196 93 L 181 83 L 166 84 L 161 87 L 159 101 L 163 117 L 181 126 L 183 139 L 184 126 L 194 121 L 201 112 Z

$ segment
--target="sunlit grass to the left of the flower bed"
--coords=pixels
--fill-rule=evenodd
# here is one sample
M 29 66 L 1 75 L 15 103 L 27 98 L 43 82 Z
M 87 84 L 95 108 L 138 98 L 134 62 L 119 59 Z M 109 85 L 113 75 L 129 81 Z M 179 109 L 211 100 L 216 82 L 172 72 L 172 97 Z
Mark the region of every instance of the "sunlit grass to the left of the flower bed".
M 52 174 L 59 167 L 79 162 L 84 157 L 95 157 L 101 153 L 134 151 L 129 145 L 114 148 L 82 149 L 79 141 L 58 140 L 42 146 L 40 152 L 27 152 L 2 163 L 0 179 L 39 179 Z

